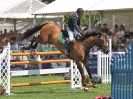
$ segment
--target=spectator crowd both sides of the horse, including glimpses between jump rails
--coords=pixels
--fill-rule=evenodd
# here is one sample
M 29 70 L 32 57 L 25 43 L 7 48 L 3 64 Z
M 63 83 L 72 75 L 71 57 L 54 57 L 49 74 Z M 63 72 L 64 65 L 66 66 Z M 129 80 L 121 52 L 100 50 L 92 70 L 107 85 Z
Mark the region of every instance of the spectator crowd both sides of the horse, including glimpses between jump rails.
M 127 32 L 125 30 L 125 26 L 122 24 L 121 25 L 116 24 L 113 29 L 110 29 L 106 23 L 98 24 L 95 27 L 95 31 L 97 33 L 101 33 L 101 35 L 106 37 L 107 40 L 109 40 L 109 38 L 112 38 L 112 51 L 114 51 L 114 52 L 125 51 L 127 45 L 133 39 L 133 32 Z M 38 46 L 40 46 L 40 45 L 38 45 L 36 37 L 31 37 L 31 38 L 23 40 L 20 43 L 16 43 L 17 35 L 21 35 L 21 34 L 17 33 L 16 31 L 12 31 L 12 30 L 7 31 L 7 29 L 0 31 L 0 47 L 2 48 L 2 46 L 5 46 L 5 45 L 7 45 L 8 42 L 10 42 L 11 51 L 19 50 L 19 52 L 26 52 L 27 50 L 30 50 L 31 48 L 34 49 L 34 51 L 35 51 L 35 49 Z M 45 47 L 47 47 L 46 50 L 48 50 L 50 46 L 43 45 L 42 50 L 37 50 L 37 51 L 44 51 Z M 92 49 L 92 51 L 93 52 L 96 51 L 95 47 Z M 41 59 L 51 58 L 51 57 L 54 58 L 55 56 L 50 56 L 50 57 L 42 56 Z M 58 56 L 56 56 L 56 58 L 57 57 Z M 21 60 L 21 59 L 22 58 L 18 59 L 17 57 L 12 57 L 12 61 Z M 33 59 L 35 59 L 35 57 L 30 56 L 27 59 L 33 60 Z M 57 65 L 59 65 L 59 64 L 57 64 Z M 29 67 L 27 67 L 27 65 L 25 65 L 25 66 L 27 69 L 30 69 Z M 23 66 L 23 67 L 25 67 L 25 66 Z M 13 67 L 16 67 L 16 66 L 13 66 Z M 21 66 L 17 65 L 17 67 L 21 67 Z M 38 68 L 38 65 L 34 66 L 34 69 L 36 69 L 36 68 Z M 42 64 L 42 68 L 52 68 L 52 65 L 51 64 Z

